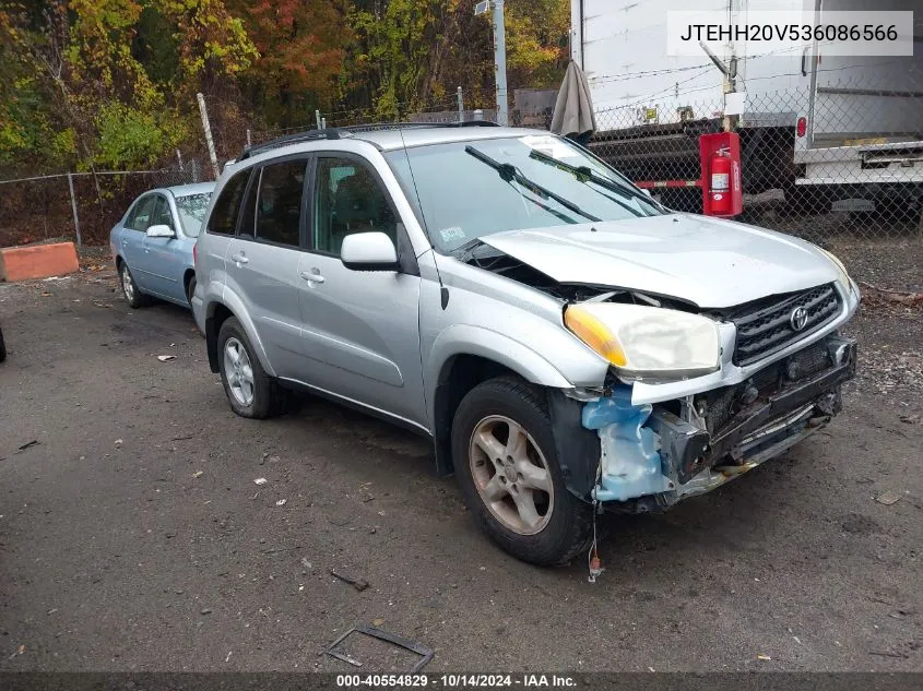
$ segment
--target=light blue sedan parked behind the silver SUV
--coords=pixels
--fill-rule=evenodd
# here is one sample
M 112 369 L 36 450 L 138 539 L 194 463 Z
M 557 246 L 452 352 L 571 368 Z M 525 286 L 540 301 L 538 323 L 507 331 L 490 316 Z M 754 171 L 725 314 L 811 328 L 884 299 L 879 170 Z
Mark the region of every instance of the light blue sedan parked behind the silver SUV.
M 152 297 L 189 307 L 196 291 L 192 250 L 214 182 L 151 190 L 109 233 L 109 246 L 130 307 Z

